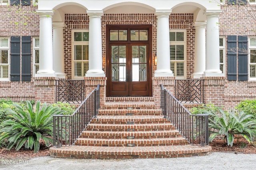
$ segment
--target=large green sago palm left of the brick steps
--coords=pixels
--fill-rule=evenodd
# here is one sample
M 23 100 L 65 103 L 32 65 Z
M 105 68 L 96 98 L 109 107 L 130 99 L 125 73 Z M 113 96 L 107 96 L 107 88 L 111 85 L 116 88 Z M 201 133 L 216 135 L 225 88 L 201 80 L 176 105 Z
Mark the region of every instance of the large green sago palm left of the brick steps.
M 26 108 L 14 104 L 14 109 L 8 109 L 6 114 L 11 119 L 3 121 L 0 125 L 0 142 L 7 141 L 7 149 L 15 146 L 19 150 L 22 146 L 26 149 L 33 149 L 34 153 L 39 151 L 40 140 L 43 140 L 47 147 L 52 143 L 53 118 L 52 115 L 60 114 L 58 107 L 52 107 L 38 101 L 33 110 L 29 101 L 26 101 Z

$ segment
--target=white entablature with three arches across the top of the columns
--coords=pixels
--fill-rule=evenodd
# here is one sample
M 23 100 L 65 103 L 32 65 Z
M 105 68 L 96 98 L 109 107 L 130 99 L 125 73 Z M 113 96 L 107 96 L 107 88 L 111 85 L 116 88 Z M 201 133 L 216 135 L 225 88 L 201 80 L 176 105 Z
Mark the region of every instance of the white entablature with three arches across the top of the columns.
M 217 0 L 218 1 L 218 0 Z M 217 2 L 208 0 L 38 0 L 38 10 L 57 10 L 62 6 L 76 5 L 86 10 L 103 10 L 118 6 L 135 5 L 148 8 L 149 10 L 174 9 L 178 6 L 191 5 L 200 9 L 219 10 Z M 183 8 L 186 13 L 186 9 Z

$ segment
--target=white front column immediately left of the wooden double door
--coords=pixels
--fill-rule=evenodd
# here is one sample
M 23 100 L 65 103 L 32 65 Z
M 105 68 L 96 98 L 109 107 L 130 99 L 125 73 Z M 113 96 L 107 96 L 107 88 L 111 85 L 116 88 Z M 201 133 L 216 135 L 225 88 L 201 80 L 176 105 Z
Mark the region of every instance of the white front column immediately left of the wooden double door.
M 102 70 L 101 16 L 103 10 L 86 10 L 89 16 L 89 70 L 86 77 L 105 77 Z

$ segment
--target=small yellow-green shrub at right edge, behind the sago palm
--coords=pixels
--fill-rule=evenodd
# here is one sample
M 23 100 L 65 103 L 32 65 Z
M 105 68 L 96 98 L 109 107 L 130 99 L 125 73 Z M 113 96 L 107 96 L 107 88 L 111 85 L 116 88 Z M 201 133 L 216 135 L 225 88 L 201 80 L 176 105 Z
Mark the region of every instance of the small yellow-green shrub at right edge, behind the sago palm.
M 256 100 L 244 100 L 240 102 L 235 109 L 238 111 L 244 111 L 245 113 L 256 117 Z

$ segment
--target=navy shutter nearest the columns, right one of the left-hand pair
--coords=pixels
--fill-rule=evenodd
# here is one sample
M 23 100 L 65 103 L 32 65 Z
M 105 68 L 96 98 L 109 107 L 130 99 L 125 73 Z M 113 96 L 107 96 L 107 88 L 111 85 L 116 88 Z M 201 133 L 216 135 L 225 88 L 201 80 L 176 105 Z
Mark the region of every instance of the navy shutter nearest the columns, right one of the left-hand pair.
M 21 43 L 21 80 L 31 81 L 31 36 L 22 36 Z

